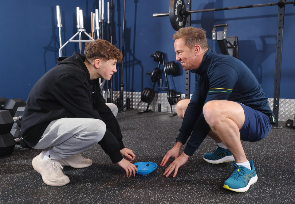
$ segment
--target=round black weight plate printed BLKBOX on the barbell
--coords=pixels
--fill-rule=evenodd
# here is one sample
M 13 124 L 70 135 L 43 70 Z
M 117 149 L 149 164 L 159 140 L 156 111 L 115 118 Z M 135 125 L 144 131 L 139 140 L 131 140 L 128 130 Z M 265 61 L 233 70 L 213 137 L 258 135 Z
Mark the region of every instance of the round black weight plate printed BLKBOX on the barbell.
M 183 14 L 185 3 L 183 0 L 170 0 L 169 18 L 174 30 L 183 28 L 187 21 L 187 16 Z

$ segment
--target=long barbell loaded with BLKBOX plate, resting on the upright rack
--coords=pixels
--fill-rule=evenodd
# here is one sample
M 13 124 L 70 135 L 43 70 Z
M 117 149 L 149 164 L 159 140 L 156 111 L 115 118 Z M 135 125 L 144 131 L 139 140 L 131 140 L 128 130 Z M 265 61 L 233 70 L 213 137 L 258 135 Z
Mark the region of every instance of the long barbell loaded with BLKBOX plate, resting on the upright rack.
M 170 0 L 169 3 L 169 12 L 168 13 L 153 13 L 153 17 L 162 17 L 169 16 L 170 23 L 175 30 L 179 30 L 186 25 L 187 16 L 191 13 L 202 13 L 209 11 L 222 11 L 222 10 L 233 10 L 233 9 L 245 9 L 245 8 L 254 8 L 262 6 L 285 6 L 286 4 L 293 4 L 295 6 L 295 1 L 290 2 L 274 2 L 274 3 L 265 3 L 265 4 L 254 4 L 247 6 L 232 6 L 232 7 L 223 7 L 217 9 L 203 9 L 203 10 L 193 10 L 186 11 L 185 3 L 183 0 Z

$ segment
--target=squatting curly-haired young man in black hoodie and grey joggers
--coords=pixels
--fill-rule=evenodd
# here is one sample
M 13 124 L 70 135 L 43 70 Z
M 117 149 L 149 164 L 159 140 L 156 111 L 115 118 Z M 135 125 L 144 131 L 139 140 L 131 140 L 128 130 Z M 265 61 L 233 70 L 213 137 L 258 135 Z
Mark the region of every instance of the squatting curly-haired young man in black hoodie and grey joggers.
M 88 167 L 92 161 L 80 152 L 98 143 L 126 171 L 135 176 L 132 150 L 124 147 L 118 112 L 106 104 L 99 79 L 110 80 L 117 71 L 122 53 L 106 40 L 85 45 L 85 56 L 75 52 L 59 57 L 56 67 L 41 77 L 31 90 L 22 119 L 22 137 L 35 149 L 45 149 L 33 159 L 33 168 L 44 183 L 62 186 L 69 183 L 62 165 Z

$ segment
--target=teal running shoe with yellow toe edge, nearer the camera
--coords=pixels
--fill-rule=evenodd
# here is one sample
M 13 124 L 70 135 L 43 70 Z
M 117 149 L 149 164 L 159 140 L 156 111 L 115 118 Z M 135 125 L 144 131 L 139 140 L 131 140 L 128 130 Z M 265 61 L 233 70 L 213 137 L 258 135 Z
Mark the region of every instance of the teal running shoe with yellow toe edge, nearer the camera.
M 246 192 L 250 186 L 257 182 L 257 174 L 252 160 L 249 160 L 251 170 L 244 166 L 238 166 L 235 162 L 234 171 L 228 179 L 223 183 L 223 188 L 235 191 L 235 192 Z

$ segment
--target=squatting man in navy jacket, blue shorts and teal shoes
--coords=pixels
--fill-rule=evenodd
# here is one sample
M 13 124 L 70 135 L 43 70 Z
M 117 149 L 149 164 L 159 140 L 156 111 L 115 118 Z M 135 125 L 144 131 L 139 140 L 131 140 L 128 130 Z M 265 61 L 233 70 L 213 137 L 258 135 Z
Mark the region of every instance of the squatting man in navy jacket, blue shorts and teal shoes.
M 171 156 L 175 157 L 164 175 L 169 176 L 174 171 L 175 177 L 179 167 L 187 162 L 208 135 L 216 141 L 218 148 L 212 154 L 205 154 L 204 160 L 212 164 L 235 160 L 234 171 L 223 188 L 247 191 L 257 181 L 257 175 L 253 161 L 246 158 L 241 140 L 258 141 L 269 133 L 270 119 L 274 120 L 268 98 L 244 63 L 208 48 L 203 29 L 181 28 L 173 39 L 176 60 L 185 71 L 196 73 L 196 77 L 190 102 L 180 101 L 177 107 L 183 123 L 175 146 L 160 164 L 164 166 Z

